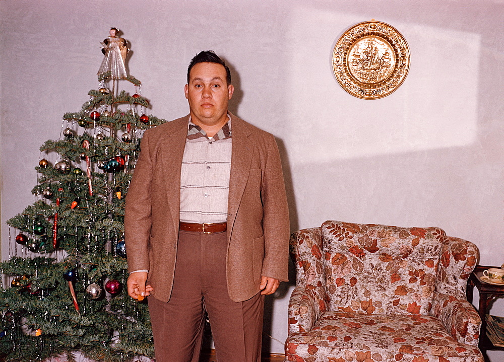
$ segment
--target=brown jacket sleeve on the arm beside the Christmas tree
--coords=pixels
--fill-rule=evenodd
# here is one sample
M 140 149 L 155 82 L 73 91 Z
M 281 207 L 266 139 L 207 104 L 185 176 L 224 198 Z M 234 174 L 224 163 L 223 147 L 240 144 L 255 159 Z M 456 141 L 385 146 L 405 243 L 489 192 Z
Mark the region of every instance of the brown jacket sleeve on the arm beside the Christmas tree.
M 149 269 L 152 175 L 153 163 L 147 131 L 142 138 L 141 152 L 126 194 L 124 209 L 124 241 L 130 272 Z

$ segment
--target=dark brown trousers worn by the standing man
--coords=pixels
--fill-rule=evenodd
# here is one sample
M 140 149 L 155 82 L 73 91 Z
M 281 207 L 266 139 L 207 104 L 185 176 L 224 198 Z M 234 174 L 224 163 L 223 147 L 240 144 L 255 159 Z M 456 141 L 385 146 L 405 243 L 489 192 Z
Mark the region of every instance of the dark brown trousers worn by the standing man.
M 156 362 L 198 362 L 208 314 L 219 362 L 260 362 L 264 296 L 233 302 L 227 233 L 179 232 L 170 301 L 149 298 Z

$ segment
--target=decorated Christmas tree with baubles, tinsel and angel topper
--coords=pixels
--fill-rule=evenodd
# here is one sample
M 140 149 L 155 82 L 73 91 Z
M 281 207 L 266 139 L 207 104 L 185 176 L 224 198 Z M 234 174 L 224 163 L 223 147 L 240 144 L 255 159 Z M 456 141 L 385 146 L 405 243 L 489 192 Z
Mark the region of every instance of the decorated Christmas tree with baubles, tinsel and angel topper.
M 98 89 L 40 148 L 34 203 L 7 222 L 15 237 L 0 263 L 0 360 L 154 355 L 147 304 L 126 290 L 124 196 L 143 131 L 164 120 L 145 114 L 114 29 L 102 43 Z

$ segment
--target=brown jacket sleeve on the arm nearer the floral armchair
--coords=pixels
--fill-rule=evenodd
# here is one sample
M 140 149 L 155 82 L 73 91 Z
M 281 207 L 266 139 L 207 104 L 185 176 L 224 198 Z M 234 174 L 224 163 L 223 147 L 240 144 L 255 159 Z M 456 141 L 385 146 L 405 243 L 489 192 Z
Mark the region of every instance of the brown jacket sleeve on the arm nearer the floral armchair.
M 267 142 L 267 159 L 261 188 L 265 243 L 261 275 L 288 281 L 289 208 L 280 153 L 273 135 L 268 134 Z

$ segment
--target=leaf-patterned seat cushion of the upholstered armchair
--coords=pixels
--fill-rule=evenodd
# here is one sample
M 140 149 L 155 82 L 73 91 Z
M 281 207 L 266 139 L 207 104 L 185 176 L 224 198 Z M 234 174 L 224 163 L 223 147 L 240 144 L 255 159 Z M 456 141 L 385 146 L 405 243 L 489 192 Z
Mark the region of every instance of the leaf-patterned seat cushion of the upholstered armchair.
M 310 331 L 291 334 L 286 350 L 288 360 L 311 362 L 481 360 L 476 347 L 421 315 L 325 312 Z

